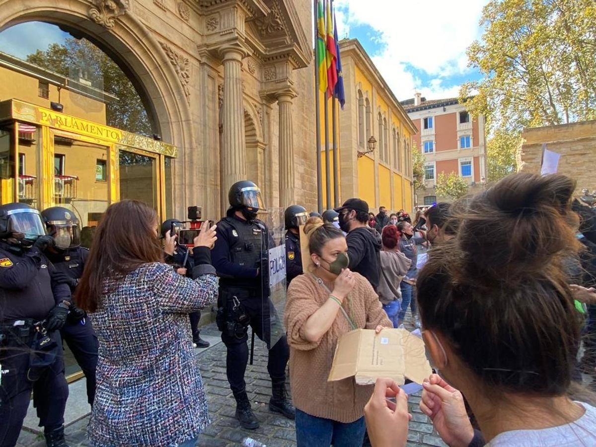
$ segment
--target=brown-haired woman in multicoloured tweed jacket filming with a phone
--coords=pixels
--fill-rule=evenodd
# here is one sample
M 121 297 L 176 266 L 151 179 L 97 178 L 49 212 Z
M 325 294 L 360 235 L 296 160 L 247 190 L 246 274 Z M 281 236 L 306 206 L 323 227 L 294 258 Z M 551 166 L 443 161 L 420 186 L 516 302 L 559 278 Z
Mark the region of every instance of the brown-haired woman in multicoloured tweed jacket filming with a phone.
M 162 262 L 155 228 L 141 202 L 108 207 L 77 288 L 100 341 L 93 446 L 185 447 L 209 424 L 188 313 L 216 299 L 215 226 L 195 238 L 193 280 Z

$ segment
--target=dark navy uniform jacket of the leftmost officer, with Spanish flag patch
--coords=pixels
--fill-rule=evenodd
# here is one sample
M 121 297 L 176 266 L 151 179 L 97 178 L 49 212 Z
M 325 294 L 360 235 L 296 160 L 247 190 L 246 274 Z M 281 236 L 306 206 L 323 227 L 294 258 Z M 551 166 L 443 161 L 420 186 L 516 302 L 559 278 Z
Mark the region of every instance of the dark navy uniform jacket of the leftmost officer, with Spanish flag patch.
M 36 247 L 25 251 L 0 241 L 0 321 L 42 320 L 55 305 L 70 301 L 70 287 L 52 281 L 54 272 L 54 265 Z

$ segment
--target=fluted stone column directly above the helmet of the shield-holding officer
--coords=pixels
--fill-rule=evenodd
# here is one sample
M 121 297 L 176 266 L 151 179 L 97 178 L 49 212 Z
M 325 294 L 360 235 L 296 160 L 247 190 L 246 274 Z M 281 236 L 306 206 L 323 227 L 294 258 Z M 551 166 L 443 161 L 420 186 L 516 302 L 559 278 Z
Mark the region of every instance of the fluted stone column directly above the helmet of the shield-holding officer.
M 240 69 L 246 52 L 236 46 L 222 48 L 224 64 L 224 103 L 222 104 L 222 197 L 229 188 L 246 179 L 246 147 L 244 141 L 244 107 Z M 222 203 L 225 207 L 227 203 Z

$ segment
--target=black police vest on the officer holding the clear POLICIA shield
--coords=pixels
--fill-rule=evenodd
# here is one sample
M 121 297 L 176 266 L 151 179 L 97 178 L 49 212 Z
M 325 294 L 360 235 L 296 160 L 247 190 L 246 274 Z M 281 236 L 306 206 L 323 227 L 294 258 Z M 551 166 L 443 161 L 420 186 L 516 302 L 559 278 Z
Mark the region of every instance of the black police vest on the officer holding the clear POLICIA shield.
M 222 222 L 232 227 L 229 260 L 244 267 L 261 268 L 263 256 L 267 256 L 266 250 L 263 250 L 263 247 L 266 247 L 267 237 L 265 225 L 260 224 L 259 221 L 246 224 L 229 217 L 222 219 Z M 229 275 L 220 274 L 220 276 L 232 278 Z

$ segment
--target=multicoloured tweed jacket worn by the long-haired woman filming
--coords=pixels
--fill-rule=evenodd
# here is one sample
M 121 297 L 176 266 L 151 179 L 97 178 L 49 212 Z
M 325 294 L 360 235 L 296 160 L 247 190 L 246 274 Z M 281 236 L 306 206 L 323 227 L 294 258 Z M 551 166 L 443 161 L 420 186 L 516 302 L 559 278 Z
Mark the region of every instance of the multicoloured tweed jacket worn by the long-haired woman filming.
M 210 265 L 195 280 L 148 263 L 105 281 L 91 314 L 100 341 L 97 394 L 88 426 L 93 446 L 176 446 L 210 423 L 188 313 L 215 301 Z

